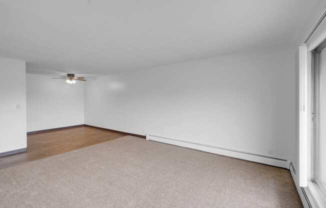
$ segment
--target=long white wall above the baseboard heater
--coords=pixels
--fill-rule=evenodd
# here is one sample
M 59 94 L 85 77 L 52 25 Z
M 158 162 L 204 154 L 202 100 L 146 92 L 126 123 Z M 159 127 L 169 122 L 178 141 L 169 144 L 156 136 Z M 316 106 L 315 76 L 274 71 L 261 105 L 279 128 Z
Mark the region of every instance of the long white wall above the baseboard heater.
M 291 159 L 291 49 L 243 52 L 85 83 L 85 123 Z

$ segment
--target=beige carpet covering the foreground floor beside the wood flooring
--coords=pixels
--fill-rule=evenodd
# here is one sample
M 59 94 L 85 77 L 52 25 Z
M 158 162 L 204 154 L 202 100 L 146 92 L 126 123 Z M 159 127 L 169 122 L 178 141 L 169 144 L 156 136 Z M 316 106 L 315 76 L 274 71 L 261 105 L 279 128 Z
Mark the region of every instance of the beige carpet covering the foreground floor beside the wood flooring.
M 125 136 L 0 169 L 0 207 L 301 207 L 286 169 Z

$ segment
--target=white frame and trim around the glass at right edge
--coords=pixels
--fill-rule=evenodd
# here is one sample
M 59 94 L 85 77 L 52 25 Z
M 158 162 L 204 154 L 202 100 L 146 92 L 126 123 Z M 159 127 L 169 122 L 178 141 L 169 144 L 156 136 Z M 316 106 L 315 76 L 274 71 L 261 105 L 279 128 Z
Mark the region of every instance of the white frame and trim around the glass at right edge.
M 311 44 L 299 48 L 299 185 L 308 193 L 308 199 L 318 207 L 326 207 L 326 195 L 315 181 L 316 134 L 315 113 L 317 98 L 315 82 L 318 67 L 316 49 L 326 45 L 326 31 Z M 315 80 L 316 79 L 316 80 Z M 318 83 L 319 84 L 319 83 Z M 313 118 L 313 120 L 312 120 Z M 315 207 L 315 206 L 313 206 Z

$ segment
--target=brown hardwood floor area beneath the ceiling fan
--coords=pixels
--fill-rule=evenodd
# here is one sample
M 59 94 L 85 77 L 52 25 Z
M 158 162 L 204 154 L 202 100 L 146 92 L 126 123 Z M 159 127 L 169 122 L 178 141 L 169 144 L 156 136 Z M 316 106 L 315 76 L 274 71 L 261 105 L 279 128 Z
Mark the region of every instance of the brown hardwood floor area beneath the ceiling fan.
M 0 168 L 53 156 L 125 135 L 89 126 L 27 135 L 27 151 L 0 157 Z

